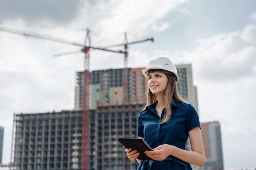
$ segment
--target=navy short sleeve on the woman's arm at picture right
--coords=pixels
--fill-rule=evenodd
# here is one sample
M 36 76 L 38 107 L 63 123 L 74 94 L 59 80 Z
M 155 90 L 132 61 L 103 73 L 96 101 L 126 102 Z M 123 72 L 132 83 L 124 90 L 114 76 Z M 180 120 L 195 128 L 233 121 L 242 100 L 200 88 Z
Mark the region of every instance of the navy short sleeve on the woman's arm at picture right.
M 189 109 L 187 110 L 187 122 L 186 122 L 187 133 L 196 127 L 199 127 L 201 129 L 197 111 L 192 105 L 190 106 L 191 107 L 189 107 Z

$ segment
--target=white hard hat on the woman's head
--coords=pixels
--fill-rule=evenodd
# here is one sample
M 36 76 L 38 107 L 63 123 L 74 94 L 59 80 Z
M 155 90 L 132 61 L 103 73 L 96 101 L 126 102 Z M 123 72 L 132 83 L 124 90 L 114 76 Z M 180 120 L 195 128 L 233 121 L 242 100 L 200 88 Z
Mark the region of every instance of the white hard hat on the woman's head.
M 176 76 L 177 82 L 179 82 L 177 69 L 174 63 L 167 57 L 157 57 L 154 60 L 151 60 L 150 62 L 148 62 L 148 66 L 143 70 L 141 70 L 141 72 L 145 77 L 148 77 L 147 71 L 151 69 L 161 69 L 161 70 L 167 70 L 169 72 L 172 72 Z

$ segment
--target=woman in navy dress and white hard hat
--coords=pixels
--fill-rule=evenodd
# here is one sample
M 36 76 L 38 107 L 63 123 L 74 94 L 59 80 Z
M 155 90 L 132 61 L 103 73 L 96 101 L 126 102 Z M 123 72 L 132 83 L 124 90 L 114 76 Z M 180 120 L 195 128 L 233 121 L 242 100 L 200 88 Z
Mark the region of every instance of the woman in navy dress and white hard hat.
M 146 107 L 138 115 L 137 135 L 154 148 L 146 151 L 153 160 L 138 160 L 140 153 L 126 149 L 138 170 L 192 170 L 189 163 L 203 166 L 205 152 L 195 108 L 179 96 L 177 69 L 166 57 L 157 57 L 142 70 L 148 78 Z M 192 151 L 185 150 L 190 139 Z

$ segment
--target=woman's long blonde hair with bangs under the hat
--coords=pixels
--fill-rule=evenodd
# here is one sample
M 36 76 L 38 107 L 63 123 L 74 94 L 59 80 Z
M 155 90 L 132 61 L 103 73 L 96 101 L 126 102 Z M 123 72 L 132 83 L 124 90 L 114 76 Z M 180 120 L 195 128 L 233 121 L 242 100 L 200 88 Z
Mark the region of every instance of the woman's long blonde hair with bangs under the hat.
M 151 72 L 156 72 L 156 71 L 154 69 L 148 70 L 148 75 Z M 161 70 L 157 69 L 157 72 L 164 72 L 166 74 L 165 70 L 161 71 Z M 176 80 L 177 80 L 176 76 L 174 74 L 172 74 L 172 73 L 170 74 L 170 73 L 171 72 L 166 74 L 167 79 L 168 79 L 167 87 L 165 89 L 165 95 L 164 95 L 164 105 L 166 107 L 164 109 L 164 111 L 166 114 L 164 115 L 164 118 L 163 118 L 163 120 L 161 120 L 160 124 L 167 123 L 171 119 L 171 117 L 172 117 L 172 101 L 173 100 L 187 103 L 186 100 L 179 95 L 177 85 L 176 85 Z M 157 100 L 156 95 L 153 94 L 148 87 L 147 104 L 143 108 L 143 110 L 145 110 L 148 105 L 151 105 L 154 102 L 156 102 L 156 100 Z

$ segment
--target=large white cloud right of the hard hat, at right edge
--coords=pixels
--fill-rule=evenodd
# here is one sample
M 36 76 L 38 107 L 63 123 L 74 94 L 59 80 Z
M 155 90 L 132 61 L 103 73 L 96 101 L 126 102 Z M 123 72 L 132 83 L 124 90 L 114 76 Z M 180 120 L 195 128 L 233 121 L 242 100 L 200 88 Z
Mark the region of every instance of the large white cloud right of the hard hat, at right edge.
M 178 61 L 192 62 L 200 79 L 230 81 L 255 75 L 256 25 L 196 42 L 198 47 Z

